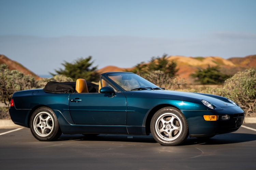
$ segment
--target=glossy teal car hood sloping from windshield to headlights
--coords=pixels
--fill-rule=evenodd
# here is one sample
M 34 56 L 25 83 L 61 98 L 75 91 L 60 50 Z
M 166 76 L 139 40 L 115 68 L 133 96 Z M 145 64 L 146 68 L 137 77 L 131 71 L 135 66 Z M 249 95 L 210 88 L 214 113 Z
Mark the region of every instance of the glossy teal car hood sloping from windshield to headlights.
M 192 92 L 182 92 L 182 91 L 172 91 L 172 90 L 141 90 L 141 92 L 148 92 L 153 94 L 162 94 L 162 95 L 172 95 L 177 96 L 177 98 L 182 99 L 190 98 L 191 100 L 194 99 L 200 99 L 200 100 L 206 100 L 216 106 L 219 107 L 233 107 L 232 103 L 230 103 L 228 100 L 221 100 L 210 96 L 204 96 L 202 94 L 192 93 Z M 193 101 L 190 101 L 193 102 Z M 224 104 L 225 103 L 225 104 Z M 201 104 L 201 103 L 200 103 Z

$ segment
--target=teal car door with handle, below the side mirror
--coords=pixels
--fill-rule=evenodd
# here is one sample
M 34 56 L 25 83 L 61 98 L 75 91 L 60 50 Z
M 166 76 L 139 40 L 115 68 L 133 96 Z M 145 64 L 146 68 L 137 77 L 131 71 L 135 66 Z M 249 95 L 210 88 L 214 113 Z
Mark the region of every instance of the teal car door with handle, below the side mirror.
M 114 97 L 101 93 L 73 93 L 69 111 L 75 124 L 126 125 L 126 97 L 122 92 L 115 92 Z

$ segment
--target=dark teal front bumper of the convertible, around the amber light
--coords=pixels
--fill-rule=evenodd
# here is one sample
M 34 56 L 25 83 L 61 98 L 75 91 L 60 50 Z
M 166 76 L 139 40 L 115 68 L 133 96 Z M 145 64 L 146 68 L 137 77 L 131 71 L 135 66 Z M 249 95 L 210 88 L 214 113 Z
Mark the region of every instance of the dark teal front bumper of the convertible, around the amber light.
M 244 111 L 238 107 L 223 107 L 221 111 L 182 111 L 188 122 L 189 137 L 203 137 L 237 131 L 244 121 Z M 229 115 L 229 120 L 205 121 L 203 115 Z

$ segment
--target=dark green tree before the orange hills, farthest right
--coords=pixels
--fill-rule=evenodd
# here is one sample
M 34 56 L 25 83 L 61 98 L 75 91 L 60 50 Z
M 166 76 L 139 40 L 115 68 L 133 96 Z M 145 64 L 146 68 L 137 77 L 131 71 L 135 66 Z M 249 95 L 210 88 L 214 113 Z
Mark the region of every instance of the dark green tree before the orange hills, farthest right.
M 222 84 L 230 78 L 230 75 L 221 73 L 219 66 L 210 67 L 209 65 L 206 69 L 198 68 L 195 74 L 190 75 L 196 78 L 196 81 L 201 84 Z

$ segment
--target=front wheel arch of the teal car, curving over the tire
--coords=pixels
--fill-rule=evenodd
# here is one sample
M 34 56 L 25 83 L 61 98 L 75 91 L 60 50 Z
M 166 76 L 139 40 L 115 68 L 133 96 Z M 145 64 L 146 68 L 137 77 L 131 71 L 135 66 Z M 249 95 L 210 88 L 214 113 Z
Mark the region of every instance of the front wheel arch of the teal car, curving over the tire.
M 145 130 L 146 130 L 146 134 L 149 135 L 151 132 L 150 132 L 150 123 L 151 123 L 151 119 L 152 117 L 154 116 L 154 114 L 159 111 L 161 108 L 164 108 L 164 107 L 174 107 L 176 109 L 179 109 L 171 104 L 159 104 L 159 105 L 156 105 L 155 107 L 153 107 L 151 109 L 151 111 L 148 113 L 147 115 L 147 118 L 146 118 L 146 123 L 145 123 Z M 180 109 L 179 109 L 180 110 Z

